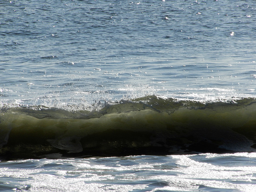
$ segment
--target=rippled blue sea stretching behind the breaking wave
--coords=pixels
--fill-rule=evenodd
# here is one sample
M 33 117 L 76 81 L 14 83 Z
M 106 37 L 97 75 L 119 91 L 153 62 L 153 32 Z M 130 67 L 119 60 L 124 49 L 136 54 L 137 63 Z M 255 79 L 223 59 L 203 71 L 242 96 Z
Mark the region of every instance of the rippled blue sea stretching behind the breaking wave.
M 1 2 L 1 100 L 65 105 L 152 93 L 254 96 L 255 6 Z

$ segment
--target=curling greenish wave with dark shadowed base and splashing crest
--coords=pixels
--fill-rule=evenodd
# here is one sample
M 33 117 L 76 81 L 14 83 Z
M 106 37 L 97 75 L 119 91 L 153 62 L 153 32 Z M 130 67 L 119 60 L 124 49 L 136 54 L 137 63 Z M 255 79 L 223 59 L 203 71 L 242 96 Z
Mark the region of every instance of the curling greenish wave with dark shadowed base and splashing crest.
M 94 111 L 2 108 L 2 159 L 255 151 L 256 100 L 147 96 Z

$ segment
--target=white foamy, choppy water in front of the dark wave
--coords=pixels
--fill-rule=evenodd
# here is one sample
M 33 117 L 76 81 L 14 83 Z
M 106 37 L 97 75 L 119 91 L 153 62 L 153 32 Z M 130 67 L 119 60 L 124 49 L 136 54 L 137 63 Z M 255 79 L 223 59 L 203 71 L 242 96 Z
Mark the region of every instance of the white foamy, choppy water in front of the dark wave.
M 0 164 L 4 191 L 254 192 L 255 153 L 17 160 Z

